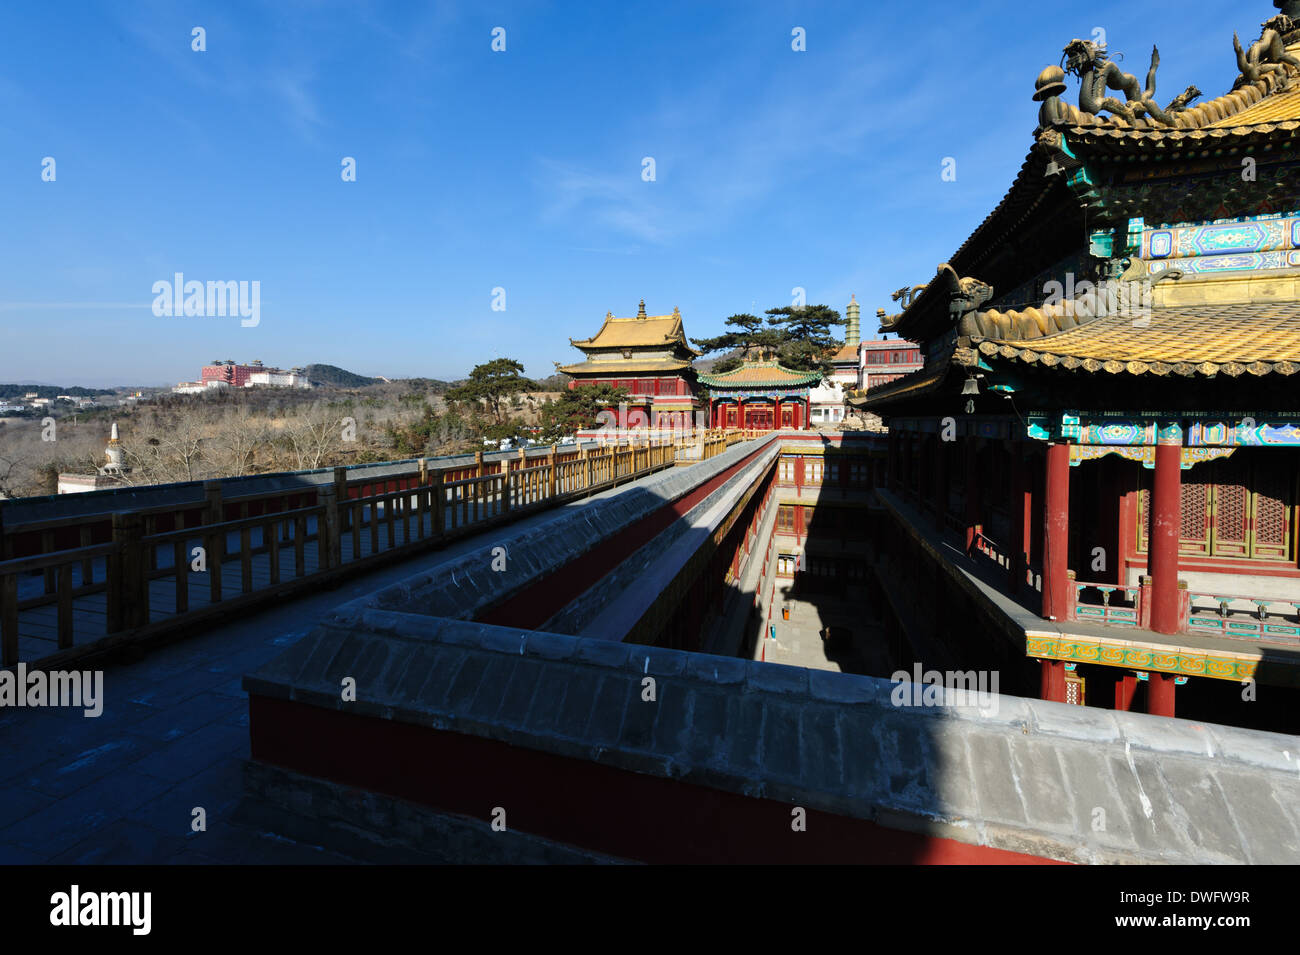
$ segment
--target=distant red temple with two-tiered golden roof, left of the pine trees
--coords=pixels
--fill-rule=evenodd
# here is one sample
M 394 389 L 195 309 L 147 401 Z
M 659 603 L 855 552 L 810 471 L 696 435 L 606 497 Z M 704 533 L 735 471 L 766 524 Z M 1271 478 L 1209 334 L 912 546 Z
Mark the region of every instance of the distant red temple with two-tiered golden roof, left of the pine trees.
M 610 385 L 627 390 L 618 427 L 686 427 L 694 421 L 699 403 L 692 361 L 699 352 L 686 343 L 676 308 L 672 314 L 647 316 L 642 300 L 632 318 L 607 312 L 599 331 L 582 340 L 571 338 L 569 344 L 586 356 L 558 368 L 573 378 L 569 388 Z

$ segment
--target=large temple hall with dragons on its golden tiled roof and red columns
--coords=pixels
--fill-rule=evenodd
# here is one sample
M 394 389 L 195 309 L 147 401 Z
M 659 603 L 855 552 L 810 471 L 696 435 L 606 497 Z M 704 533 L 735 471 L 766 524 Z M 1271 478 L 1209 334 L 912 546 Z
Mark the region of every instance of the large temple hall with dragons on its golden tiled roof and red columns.
M 1144 88 L 1069 43 L 1005 199 L 881 320 L 924 366 L 850 403 L 889 427 L 881 539 L 936 589 L 928 629 L 892 622 L 918 652 L 1206 720 L 1260 683 L 1231 721 L 1294 722 L 1300 3 L 1274 6 L 1199 105 L 1156 101 L 1158 55 Z

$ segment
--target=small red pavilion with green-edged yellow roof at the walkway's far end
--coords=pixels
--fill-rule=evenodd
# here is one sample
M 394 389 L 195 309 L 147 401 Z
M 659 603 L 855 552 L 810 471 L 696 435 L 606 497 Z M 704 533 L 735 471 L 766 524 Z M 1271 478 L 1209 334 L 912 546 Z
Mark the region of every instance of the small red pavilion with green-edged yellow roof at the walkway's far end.
M 719 374 L 699 374 L 708 401 L 710 427 L 772 431 L 809 426 L 809 395 L 820 372 L 798 372 L 774 355 L 745 361 Z

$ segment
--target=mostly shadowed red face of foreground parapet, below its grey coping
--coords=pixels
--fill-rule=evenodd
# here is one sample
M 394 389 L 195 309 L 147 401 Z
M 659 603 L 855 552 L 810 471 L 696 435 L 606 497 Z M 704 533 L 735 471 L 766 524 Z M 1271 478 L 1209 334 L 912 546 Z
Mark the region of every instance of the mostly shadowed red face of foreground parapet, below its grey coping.
M 1060 864 L 586 760 L 250 695 L 252 758 L 649 863 Z

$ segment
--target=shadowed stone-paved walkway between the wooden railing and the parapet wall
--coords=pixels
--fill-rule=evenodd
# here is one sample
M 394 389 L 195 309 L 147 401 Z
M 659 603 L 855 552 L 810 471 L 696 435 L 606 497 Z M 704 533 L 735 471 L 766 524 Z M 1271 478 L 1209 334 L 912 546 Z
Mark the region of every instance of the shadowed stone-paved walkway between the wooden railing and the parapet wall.
M 543 511 L 512 526 L 562 512 Z M 239 821 L 242 764 L 250 755 L 242 677 L 338 604 L 481 546 L 481 537 L 464 538 L 337 590 L 239 616 L 139 663 L 109 665 L 99 717 L 81 709 L 0 709 L 0 864 L 352 861 Z M 196 807 L 207 812 L 207 832 L 191 832 Z

